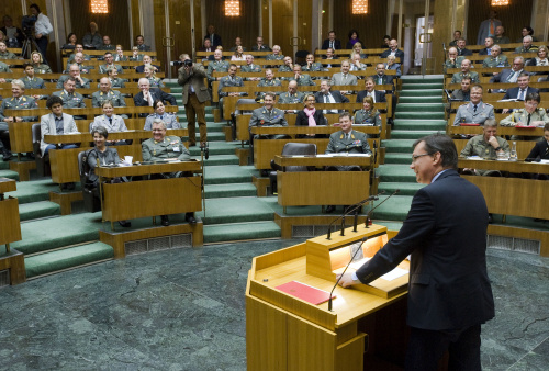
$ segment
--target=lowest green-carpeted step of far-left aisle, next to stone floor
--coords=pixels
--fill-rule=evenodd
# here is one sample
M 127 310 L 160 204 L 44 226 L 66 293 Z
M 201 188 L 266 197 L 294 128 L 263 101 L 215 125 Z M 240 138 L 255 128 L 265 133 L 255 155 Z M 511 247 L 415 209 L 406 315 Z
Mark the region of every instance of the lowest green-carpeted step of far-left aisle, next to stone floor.
M 25 257 L 26 278 L 112 259 L 113 257 L 112 247 L 99 241 Z

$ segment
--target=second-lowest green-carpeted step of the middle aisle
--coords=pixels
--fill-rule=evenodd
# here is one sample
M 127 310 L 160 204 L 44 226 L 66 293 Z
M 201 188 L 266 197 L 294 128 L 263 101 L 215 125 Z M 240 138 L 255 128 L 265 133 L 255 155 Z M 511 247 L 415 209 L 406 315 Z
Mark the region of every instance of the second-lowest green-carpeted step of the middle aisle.
M 204 211 L 197 213 L 204 225 L 274 220 L 272 209 L 256 196 L 208 199 L 205 203 L 205 216 Z

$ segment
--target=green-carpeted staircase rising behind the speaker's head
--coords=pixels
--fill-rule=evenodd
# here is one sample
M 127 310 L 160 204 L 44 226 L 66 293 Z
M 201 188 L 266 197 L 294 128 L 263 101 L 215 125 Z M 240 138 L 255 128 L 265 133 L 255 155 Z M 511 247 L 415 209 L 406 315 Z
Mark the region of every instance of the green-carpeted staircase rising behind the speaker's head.
M 378 168 L 379 191 L 397 195 L 373 212 L 376 220 L 404 221 L 415 192 L 424 187 L 410 169 L 412 145 L 423 136 L 446 130 L 442 76 L 403 76 L 391 139 L 383 140 L 385 164 Z M 386 195 L 385 195 L 386 196 Z M 380 201 L 384 200 L 381 198 Z

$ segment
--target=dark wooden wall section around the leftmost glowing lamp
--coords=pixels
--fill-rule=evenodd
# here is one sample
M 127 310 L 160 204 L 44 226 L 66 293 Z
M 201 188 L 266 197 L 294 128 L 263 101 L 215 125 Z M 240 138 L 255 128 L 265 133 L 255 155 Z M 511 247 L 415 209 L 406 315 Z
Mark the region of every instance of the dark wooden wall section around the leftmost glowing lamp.
M 127 0 L 109 0 L 108 14 L 92 14 L 89 1 L 72 0 L 70 1 L 70 12 L 66 15 L 70 16 L 72 24 L 72 30 L 67 30 L 67 35 L 74 32 L 78 36 L 78 41 L 81 41 L 83 35 L 89 32 L 90 22 L 96 22 L 98 32 L 101 35 L 109 35 L 113 45 L 122 44 L 125 50 L 131 49 Z

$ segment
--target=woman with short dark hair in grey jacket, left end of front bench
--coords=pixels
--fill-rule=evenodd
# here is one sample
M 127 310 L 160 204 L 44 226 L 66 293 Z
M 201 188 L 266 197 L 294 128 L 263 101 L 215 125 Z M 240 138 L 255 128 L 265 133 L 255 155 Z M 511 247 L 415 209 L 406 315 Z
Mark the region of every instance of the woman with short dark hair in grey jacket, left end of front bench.
M 109 132 L 103 126 L 98 126 L 91 131 L 91 136 L 93 138 L 93 144 L 96 145 L 92 149 L 88 151 L 88 179 L 86 180 L 87 188 L 99 189 L 99 177 L 96 175 L 96 167 L 117 165 L 120 164 L 119 151 L 116 148 L 111 148 L 107 146 L 107 138 L 109 137 Z M 111 183 L 122 182 L 121 178 L 114 178 Z M 99 198 L 99 192 L 94 193 Z M 132 223 L 126 221 L 120 221 L 119 224 L 122 227 L 131 227 Z

